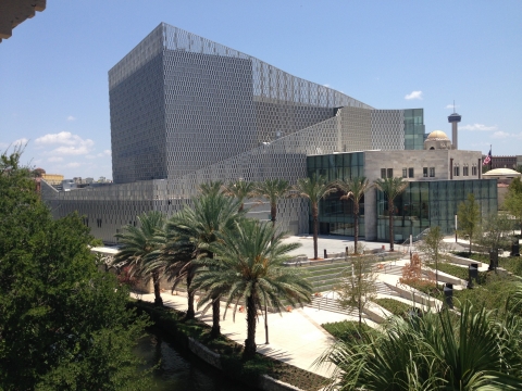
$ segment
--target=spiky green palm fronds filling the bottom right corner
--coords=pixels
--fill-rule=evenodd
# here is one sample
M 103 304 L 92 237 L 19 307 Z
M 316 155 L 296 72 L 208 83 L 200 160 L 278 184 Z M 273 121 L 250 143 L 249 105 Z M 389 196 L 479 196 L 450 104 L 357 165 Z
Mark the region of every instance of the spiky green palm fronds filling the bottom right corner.
M 318 363 L 336 365 L 326 390 L 520 390 L 521 320 L 469 302 L 458 319 L 449 310 L 393 317 L 384 333 L 338 341 Z

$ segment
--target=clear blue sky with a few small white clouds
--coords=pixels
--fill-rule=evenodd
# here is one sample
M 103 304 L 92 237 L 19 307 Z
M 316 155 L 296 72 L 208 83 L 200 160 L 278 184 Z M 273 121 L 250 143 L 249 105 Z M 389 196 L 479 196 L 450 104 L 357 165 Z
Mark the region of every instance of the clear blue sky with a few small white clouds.
M 112 178 L 108 71 L 160 22 L 377 109 L 424 109 L 459 148 L 522 154 L 522 1 L 48 0 L 0 43 L 0 149 Z M 409 99 L 408 99 L 409 98 Z

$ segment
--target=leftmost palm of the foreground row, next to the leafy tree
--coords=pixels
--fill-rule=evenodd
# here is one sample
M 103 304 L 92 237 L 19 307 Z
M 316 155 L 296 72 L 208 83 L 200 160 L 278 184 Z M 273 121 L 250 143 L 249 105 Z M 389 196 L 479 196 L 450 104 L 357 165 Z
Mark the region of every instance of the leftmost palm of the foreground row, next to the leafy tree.
M 122 234 L 116 234 L 119 243 L 122 244 L 120 252 L 114 256 L 113 264 L 130 266 L 132 273 L 152 277 L 154 286 L 154 304 L 163 305 L 160 291 L 160 270 L 146 268 L 148 262 L 158 256 L 157 250 L 164 244 L 165 218 L 161 212 L 152 211 L 136 217 L 138 226 L 126 225 Z

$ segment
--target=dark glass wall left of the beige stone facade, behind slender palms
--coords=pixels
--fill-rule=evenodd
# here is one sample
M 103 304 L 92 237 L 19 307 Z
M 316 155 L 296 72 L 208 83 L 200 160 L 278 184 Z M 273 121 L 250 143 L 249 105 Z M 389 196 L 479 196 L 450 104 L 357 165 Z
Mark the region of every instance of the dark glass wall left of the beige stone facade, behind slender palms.
M 327 181 L 364 175 L 364 153 L 336 153 L 307 157 L 308 176 L 322 175 Z M 340 200 L 340 191 L 328 194 L 319 204 L 319 234 L 353 236 L 353 201 Z M 310 216 L 310 230 L 312 220 Z M 364 198 L 359 203 L 359 236 L 364 236 Z

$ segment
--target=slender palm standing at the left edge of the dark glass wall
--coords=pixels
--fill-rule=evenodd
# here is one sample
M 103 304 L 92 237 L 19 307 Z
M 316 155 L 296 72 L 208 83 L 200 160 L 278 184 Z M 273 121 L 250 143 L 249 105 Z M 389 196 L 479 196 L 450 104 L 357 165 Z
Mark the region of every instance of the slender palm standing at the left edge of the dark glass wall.
M 294 188 L 300 197 L 310 200 L 310 209 L 313 220 L 313 258 L 318 258 L 318 225 L 319 225 L 319 201 L 335 191 L 331 184 L 326 184 L 323 176 L 312 175 L 311 178 L 301 178 Z

